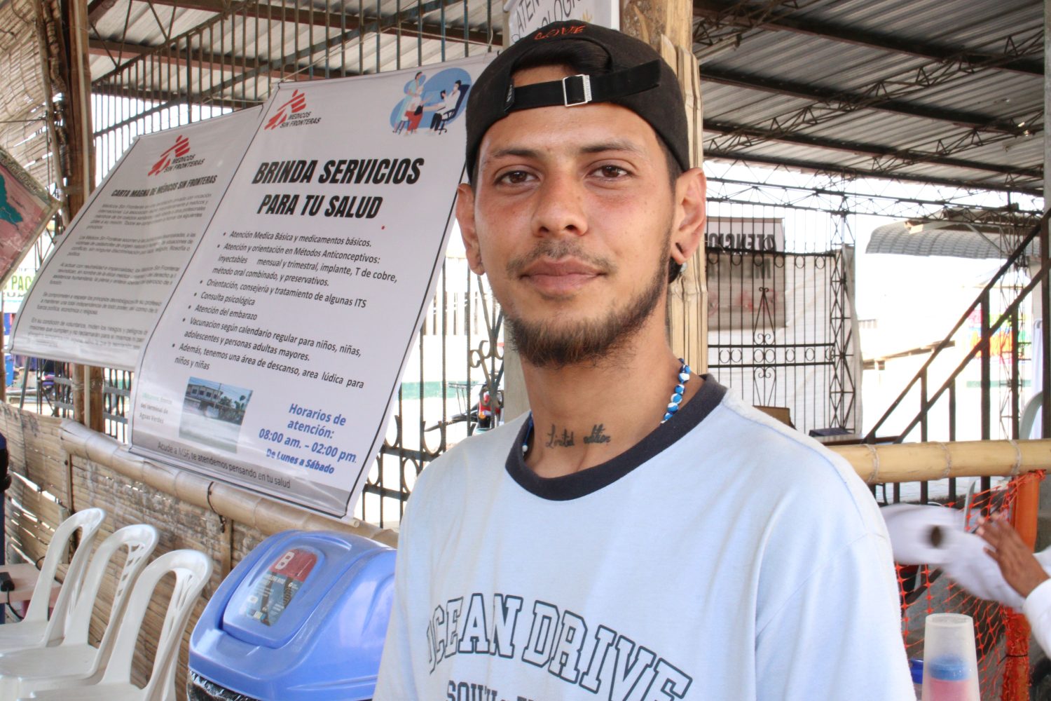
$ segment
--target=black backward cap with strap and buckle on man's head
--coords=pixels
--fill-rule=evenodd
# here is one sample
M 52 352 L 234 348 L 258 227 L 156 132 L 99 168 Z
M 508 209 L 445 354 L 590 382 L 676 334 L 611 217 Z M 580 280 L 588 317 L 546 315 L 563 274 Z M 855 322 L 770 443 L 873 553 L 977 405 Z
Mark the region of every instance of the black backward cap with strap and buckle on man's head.
M 586 41 L 610 57 L 610 69 L 515 87 L 518 64 L 539 45 Z M 645 42 L 616 29 L 577 20 L 553 22 L 522 37 L 486 66 L 467 99 L 467 167 L 474 172 L 478 147 L 494 123 L 518 109 L 612 102 L 644 119 L 683 170 L 689 169 L 686 109 L 672 67 Z

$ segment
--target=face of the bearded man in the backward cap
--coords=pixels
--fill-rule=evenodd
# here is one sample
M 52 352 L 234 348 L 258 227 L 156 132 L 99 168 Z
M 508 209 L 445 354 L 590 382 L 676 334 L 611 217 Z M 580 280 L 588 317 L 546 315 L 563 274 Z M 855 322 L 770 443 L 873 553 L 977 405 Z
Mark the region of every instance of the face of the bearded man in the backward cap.
M 566 75 L 531 68 L 515 84 Z M 471 268 L 489 275 L 523 357 L 561 366 L 601 357 L 655 313 L 663 328 L 681 209 L 653 128 L 596 103 L 496 122 L 474 190 L 460 186 L 457 219 Z

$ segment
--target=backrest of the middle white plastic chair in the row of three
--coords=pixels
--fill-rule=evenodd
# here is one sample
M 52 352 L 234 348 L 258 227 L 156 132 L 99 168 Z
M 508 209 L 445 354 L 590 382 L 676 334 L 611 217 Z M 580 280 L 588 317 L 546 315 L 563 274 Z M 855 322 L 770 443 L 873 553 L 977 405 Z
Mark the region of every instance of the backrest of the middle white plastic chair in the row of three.
M 123 529 L 112 534 L 102 541 L 99 549 L 91 558 L 91 564 L 84 573 L 84 583 L 80 587 L 80 596 L 77 602 L 69 610 L 69 620 L 66 623 L 65 637 L 60 647 L 63 645 L 83 645 L 87 643 L 87 635 L 91 625 L 91 614 L 95 611 L 99 598 L 99 590 L 102 587 L 102 580 L 106 575 L 106 568 L 109 561 L 122 550 L 127 549 L 127 557 L 124 558 L 124 566 L 117 578 L 117 586 L 114 590 L 114 600 L 109 606 L 109 620 L 106 630 L 99 641 L 99 652 L 96 655 L 98 664 L 105 664 L 108 659 L 109 648 L 117 633 L 124 606 L 127 602 L 132 584 L 139 573 L 142 572 L 149 559 L 150 553 L 157 547 L 157 529 L 152 525 L 139 523 L 136 525 L 125 525 Z

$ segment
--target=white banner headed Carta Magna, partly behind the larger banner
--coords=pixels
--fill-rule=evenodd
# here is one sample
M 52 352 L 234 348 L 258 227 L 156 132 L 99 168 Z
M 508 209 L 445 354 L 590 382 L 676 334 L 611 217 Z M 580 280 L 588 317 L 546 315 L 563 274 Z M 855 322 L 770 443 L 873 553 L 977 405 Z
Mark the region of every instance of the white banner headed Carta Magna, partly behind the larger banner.
M 139 137 L 37 273 L 13 352 L 133 369 L 260 114 Z

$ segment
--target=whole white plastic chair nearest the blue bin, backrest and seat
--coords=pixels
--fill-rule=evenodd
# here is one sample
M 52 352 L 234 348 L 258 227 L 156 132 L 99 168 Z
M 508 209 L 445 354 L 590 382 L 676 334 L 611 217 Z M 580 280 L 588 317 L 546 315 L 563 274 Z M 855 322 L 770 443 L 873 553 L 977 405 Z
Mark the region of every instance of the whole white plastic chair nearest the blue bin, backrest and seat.
M 47 701 L 174 701 L 179 699 L 176 689 L 176 666 L 183 633 L 189 620 L 193 604 L 201 590 L 211 577 L 211 560 L 195 550 L 176 550 L 166 553 L 149 563 L 131 592 L 127 612 L 121 621 L 117 642 L 109 658 L 109 664 L 99 683 L 91 686 L 56 688 L 33 694 L 32 699 Z M 164 616 L 164 624 L 157 641 L 153 668 L 146 686 L 139 688 L 131 683 L 131 662 L 135 646 L 146 615 L 146 607 L 153 597 L 158 582 L 169 572 L 176 574 L 171 599 Z M 8 698 L 8 697 L 0 697 Z M 11 697 L 14 698 L 14 697 Z M 185 698 L 185 697 L 183 697 Z

